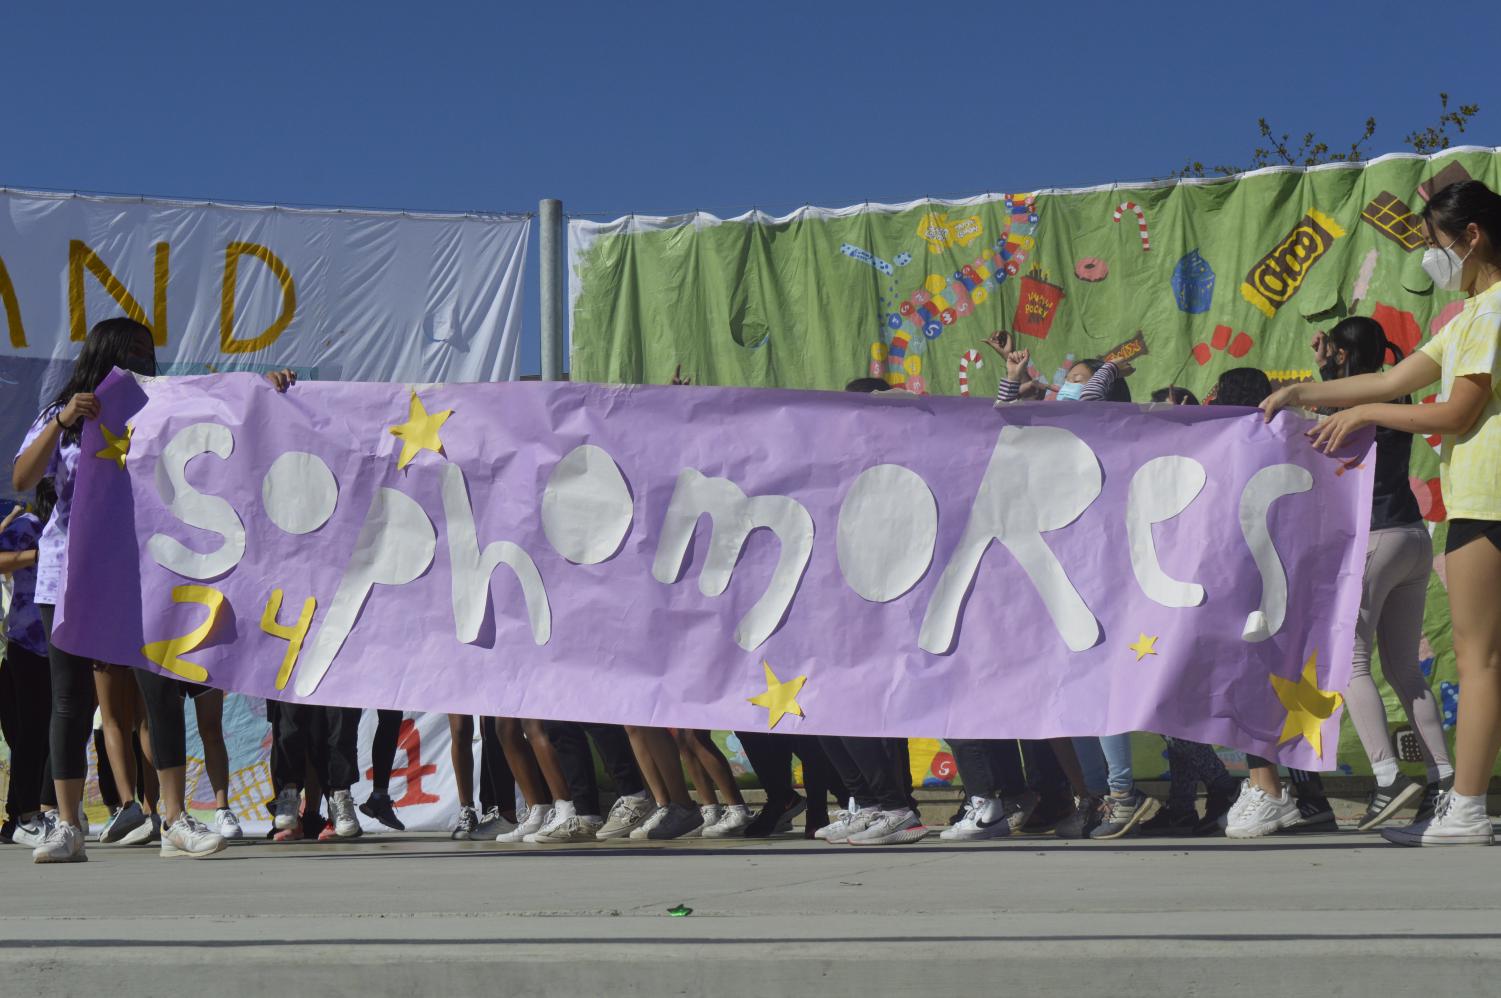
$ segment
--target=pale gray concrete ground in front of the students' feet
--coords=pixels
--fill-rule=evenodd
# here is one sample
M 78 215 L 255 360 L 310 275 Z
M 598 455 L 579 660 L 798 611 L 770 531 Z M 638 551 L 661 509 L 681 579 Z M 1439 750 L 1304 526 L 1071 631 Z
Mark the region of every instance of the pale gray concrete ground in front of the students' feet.
M 1369 834 L 868 849 L 392 834 L 89 860 L 0 846 L 3 993 L 1501 990 L 1501 851 Z M 669 915 L 680 903 L 692 914 Z

